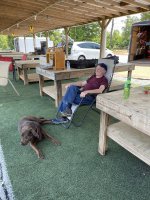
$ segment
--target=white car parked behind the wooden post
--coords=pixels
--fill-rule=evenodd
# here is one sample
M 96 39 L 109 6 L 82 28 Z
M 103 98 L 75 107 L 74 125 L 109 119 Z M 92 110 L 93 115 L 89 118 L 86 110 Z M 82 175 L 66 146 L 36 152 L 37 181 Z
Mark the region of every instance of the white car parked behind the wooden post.
M 74 42 L 69 45 L 69 60 L 99 59 L 100 45 L 95 42 Z M 105 51 L 105 57 L 112 56 L 109 49 Z

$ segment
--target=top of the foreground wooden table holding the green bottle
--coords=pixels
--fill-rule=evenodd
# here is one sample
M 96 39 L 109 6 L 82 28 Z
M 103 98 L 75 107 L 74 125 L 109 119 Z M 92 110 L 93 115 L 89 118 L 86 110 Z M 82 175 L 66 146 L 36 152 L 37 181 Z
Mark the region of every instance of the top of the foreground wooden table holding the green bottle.
M 143 87 L 132 88 L 123 99 L 123 90 L 97 96 L 96 107 L 128 125 L 150 135 L 150 95 Z

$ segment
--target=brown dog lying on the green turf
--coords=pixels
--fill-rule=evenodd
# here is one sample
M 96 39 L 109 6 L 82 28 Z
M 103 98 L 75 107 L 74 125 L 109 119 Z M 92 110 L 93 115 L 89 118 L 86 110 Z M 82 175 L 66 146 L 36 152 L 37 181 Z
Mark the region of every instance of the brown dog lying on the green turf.
M 44 138 L 52 141 L 54 144 L 59 145 L 60 142 L 55 140 L 52 136 L 48 135 L 41 127 L 44 124 L 52 124 L 51 120 L 38 118 L 33 116 L 23 117 L 18 123 L 18 130 L 21 134 L 21 144 L 30 144 L 31 148 L 36 152 L 38 158 L 44 159 L 43 154 L 37 149 L 37 142 Z

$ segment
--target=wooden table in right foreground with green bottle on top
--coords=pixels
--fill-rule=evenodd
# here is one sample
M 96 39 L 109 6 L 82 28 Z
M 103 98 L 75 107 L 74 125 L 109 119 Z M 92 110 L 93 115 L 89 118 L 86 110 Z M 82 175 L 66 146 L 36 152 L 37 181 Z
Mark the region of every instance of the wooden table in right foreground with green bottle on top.
M 150 95 L 143 87 L 132 88 L 127 100 L 123 91 L 97 96 L 96 107 L 101 110 L 99 153 L 105 155 L 107 138 L 150 165 Z M 120 120 L 109 125 L 109 116 Z

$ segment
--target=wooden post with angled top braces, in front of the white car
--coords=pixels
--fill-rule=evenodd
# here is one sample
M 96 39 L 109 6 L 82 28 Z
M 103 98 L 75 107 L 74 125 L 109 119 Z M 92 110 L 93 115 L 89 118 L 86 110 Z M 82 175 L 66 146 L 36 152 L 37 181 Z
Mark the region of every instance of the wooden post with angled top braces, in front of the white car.
M 102 21 L 99 21 L 99 25 L 101 27 L 101 46 L 100 46 L 100 58 L 105 57 L 105 49 L 106 49 L 106 31 L 107 31 L 107 26 L 110 23 L 111 19 L 106 20 L 103 19 Z

